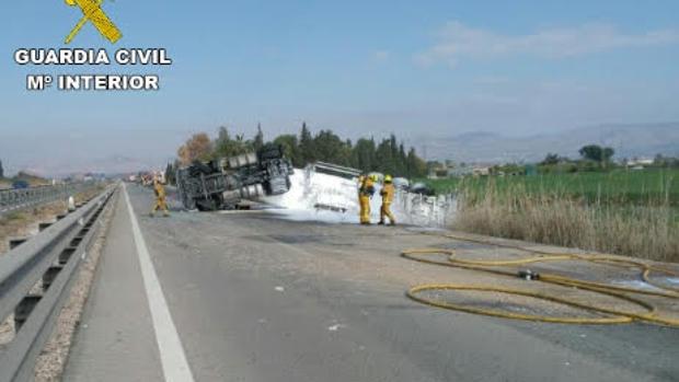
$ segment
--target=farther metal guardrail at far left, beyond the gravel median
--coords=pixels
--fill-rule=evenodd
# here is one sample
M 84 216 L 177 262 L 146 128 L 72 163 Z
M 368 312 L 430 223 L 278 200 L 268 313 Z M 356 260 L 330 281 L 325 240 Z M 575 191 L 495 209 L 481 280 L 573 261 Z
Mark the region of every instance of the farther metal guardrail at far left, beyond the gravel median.
M 0 190 L 0 216 L 27 207 L 38 206 L 81 193 L 96 185 L 95 182 L 67 183 L 22 189 Z

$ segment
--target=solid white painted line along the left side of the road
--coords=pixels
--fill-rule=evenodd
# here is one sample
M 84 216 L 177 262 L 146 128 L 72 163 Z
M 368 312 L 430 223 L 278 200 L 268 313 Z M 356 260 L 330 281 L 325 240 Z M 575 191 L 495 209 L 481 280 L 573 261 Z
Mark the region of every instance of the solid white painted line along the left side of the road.
M 125 185 L 123 185 L 123 190 L 125 193 L 127 210 L 129 211 L 129 220 L 133 225 L 133 234 L 137 246 L 137 254 L 139 255 L 141 276 L 143 278 L 146 296 L 149 300 L 149 309 L 151 311 L 153 329 L 156 332 L 156 342 L 158 343 L 160 361 L 163 367 L 165 381 L 193 382 L 194 377 L 186 361 L 186 355 L 184 354 L 180 335 L 176 332 L 174 322 L 172 322 L 172 315 L 170 315 L 165 296 L 158 281 L 158 275 L 153 268 L 153 263 L 151 262 L 149 250 L 143 241 L 143 235 L 141 235 L 139 222 L 135 216 L 133 205 L 129 201 L 129 195 L 127 194 L 127 187 Z

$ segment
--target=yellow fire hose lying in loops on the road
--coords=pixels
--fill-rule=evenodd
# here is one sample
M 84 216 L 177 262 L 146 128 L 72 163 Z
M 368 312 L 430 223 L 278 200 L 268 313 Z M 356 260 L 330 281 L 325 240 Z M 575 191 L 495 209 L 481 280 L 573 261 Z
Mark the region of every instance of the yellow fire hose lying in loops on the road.
M 502 259 L 502 261 L 465 261 L 456 257 L 456 252 L 452 250 L 441 250 L 441 248 L 417 248 L 417 250 L 407 250 L 402 252 L 402 256 L 405 258 L 410 258 L 421 263 L 442 265 L 456 268 L 471 269 L 484 273 L 491 273 L 499 276 L 513 277 L 516 278 L 517 274 L 510 270 L 502 270 L 496 269 L 497 267 L 505 266 L 517 266 L 517 265 L 526 265 L 526 264 L 534 264 L 534 263 L 544 263 L 544 262 L 591 262 L 597 264 L 606 264 L 615 267 L 635 267 L 641 269 L 642 279 L 659 289 L 658 291 L 654 290 L 644 290 L 636 288 L 628 288 L 628 287 L 619 287 L 611 286 L 608 283 L 585 281 L 575 278 L 552 275 L 552 274 L 540 274 L 538 281 L 554 283 L 563 287 L 578 288 L 587 291 L 591 291 L 595 293 L 606 294 L 612 297 L 614 299 L 623 300 L 629 303 L 635 304 L 643 309 L 644 313 L 636 313 L 630 311 L 623 311 L 618 309 L 608 309 L 603 306 L 598 306 L 595 304 L 588 304 L 583 302 L 577 302 L 573 300 L 568 300 L 565 298 L 533 292 L 529 290 L 520 290 L 520 289 L 510 289 L 504 287 L 496 286 L 468 286 L 468 285 L 458 285 L 458 283 L 429 283 L 429 285 L 421 285 L 411 288 L 406 296 L 417 302 L 450 309 L 461 312 L 474 313 L 474 314 L 483 314 L 491 315 L 496 317 L 504 319 L 513 319 L 513 320 L 527 320 L 527 321 L 540 321 L 548 323 L 563 323 L 563 324 L 623 324 L 631 323 L 634 321 L 644 321 L 654 324 L 667 325 L 667 326 L 679 326 L 679 320 L 659 316 L 657 314 L 657 309 L 652 303 L 641 300 L 638 298 L 633 298 L 628 296 L 629 293 L 634 294 L 644 294 L 648 297 L 655 298 L 665 298 L 665 299 L 679 299 L 679 290 L 675 288 L 670 288 L 668 286 L 664 286 L 654 281 L 651 278 L 652 273 L 663 273 L 670 276 L 679 276 L 679 273 L 674 271 L 671 269 L 666 269 L 657 266 L 653 266 L 640 261 L 624 259 L 617 256 L 609 255 L 580 255 L 580 254 L 562 254 L 562 253 L 548 253 L 542 251 L 536 251 L 531 248 L 526 248 L 516 245 L 506 245 L 506 244 L 496 244 L 491 243 L 488 241 L 476 240 L 457 236 L 452 234 L 442 235 L 448 239 L 453 239 L 457 241 L 465 241 L 473 242 L 479 244 L 490 244 L 499 247 L 514 248 L 523 252 L 529 252 L 534 254 L 533 257 L 520 258 L 520 259 Z M 425 255 L 447 255 L 447 261 L 435 261 L 425 257 Z M 492 268 L 495 267 L 495 268 Z M 493 309 L 482 309 L 475 306 L 469 306 L 460 303 L 452 303 L 447 301 L 440 301 L 435 299 L 424 298 L 421 294 L 427 291 L 442 291 L 442 290 L 472 290 L 472 291 L 486 291 L 486 292 L 496 292 L 504 294 L 515 294 L 515 296 L 523 296 L 529 298 L 534 298 L 539 300 L 550 301 L 553 303 L 559 303 L 563 305 L 573 306 L 576 309 L 582 309 L 595 313 L 606 314 L 609 316 L 606 317 L 560 317 L 560 316 L 549 316 L 549 315 L 540 315 L 540 314 L 522 314 L 522 313 L 514 313 L 500 310 Z

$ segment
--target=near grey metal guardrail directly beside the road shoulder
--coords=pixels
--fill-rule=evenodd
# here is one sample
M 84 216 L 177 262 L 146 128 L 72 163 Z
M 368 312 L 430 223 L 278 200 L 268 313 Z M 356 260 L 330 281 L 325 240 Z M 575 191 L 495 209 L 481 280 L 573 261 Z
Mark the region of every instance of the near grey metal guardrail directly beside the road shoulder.
M 15 325 L 12 342 L 0 346 L 0 381 L 33 380 L 35 361 L 101 227 L 97 218 L 114 193 L 115 186 L 108 187 L 0 256 L 0 323 L 14 313 Z M 42 292 L 35 293 L 38 287 Z

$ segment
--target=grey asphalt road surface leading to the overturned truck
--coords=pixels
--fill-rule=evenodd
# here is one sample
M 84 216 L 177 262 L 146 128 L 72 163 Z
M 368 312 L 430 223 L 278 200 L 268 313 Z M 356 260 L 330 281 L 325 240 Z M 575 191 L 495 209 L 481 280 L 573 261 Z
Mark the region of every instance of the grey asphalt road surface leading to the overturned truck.
M 470 277 L 399 256 L 450 240 L 258 211 L 151 219 L 152 193 L 127 190 L 171 319 L 149 304 L 158 290 L 120 197 L 65 381 L 160 381 L 163 370 L 196 381 L 679 380 L 679 329 L 507 321 L 407 300 L 414 283 Z

